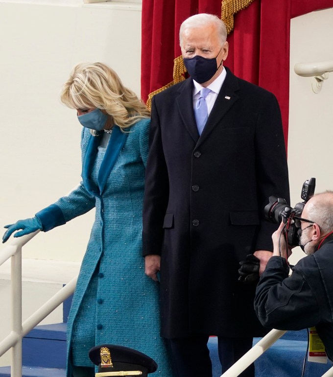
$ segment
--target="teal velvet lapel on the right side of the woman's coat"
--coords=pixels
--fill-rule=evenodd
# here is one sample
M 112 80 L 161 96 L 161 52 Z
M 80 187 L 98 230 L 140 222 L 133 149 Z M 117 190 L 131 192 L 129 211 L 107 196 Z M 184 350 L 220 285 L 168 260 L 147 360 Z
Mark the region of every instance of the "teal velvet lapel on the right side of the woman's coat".
M 127 136 L 128 136 L 128 132 L 126 133 L 122 132 L 120 128 L 116 125 L 113 127 L 111 138 L 108 142 L 108 146 L 106 148 L 106 152 L 105 152 L 103 161 L 100 165 L 98 176 L 97 176 L 100 194 L 103 193 L 106 181 L 109 178 L 111 170 L 117 161 L 120 150 L 125 144 Z

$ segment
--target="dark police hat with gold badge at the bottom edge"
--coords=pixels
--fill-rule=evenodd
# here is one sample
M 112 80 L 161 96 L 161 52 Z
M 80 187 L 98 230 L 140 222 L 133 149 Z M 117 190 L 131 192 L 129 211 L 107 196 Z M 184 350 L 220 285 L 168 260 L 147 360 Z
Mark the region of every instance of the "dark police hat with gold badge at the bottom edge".
M 89 351 L 91 361 L 98 365 L 96 377 L 142 376 L 157 369 L 156 362 L 146 354 L 128 347 L 102 344 Z

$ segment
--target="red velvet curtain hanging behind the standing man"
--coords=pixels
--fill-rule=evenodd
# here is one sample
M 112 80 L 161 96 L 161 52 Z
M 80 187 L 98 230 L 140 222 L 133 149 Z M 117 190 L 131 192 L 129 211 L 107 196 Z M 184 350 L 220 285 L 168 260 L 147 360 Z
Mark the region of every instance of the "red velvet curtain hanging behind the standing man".
M 285 140 L 289 113 L 290 19 L 333 7 L 333 0 L 254 0 L 235 15 L 225 65 L 238 77 L 274 93 L 281 107 Z M 142 97 L 172 81 L 181 54 L 180 24 L 196 13 L 221 17 L 219 0 L 143 0 Z

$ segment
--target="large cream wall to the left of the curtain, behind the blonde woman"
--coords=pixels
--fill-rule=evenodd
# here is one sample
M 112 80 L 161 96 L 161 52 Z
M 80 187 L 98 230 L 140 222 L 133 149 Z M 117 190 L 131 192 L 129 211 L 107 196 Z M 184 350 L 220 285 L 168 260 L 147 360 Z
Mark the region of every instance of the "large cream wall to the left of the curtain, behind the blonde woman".
M 58 99 L 76 63 L 107 63 L 140 94 L 141 6 L 81 3 L 0 0 L 1 228 L 33 216 L 80 181 L 81 125 Z M 93 218 L 92 211 L 40 233 L 24 257 L 81 260 Z

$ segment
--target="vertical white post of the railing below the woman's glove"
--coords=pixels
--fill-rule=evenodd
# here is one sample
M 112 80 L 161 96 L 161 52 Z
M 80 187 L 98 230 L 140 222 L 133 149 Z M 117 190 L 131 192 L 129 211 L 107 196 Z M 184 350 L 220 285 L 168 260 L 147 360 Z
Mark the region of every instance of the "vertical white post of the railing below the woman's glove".
M 22 247 L 11 258 L 11 324 L 19 340 L 12 348 L 11 377 L 22 377 Z

